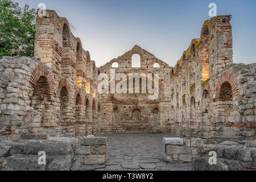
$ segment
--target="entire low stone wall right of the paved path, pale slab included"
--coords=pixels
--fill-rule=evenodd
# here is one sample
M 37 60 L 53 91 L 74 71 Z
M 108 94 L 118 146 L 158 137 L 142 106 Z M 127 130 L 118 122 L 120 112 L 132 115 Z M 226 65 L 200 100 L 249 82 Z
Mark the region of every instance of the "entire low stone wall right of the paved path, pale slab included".
M 241 139 L 164 138 L 164 160 L 168 163 L 192 163 L 193 171 L 256 171 L 256 140 Z M 209 155 L 210 152 L 216 152 L 217 164 L 209 163 L 213 156 Z

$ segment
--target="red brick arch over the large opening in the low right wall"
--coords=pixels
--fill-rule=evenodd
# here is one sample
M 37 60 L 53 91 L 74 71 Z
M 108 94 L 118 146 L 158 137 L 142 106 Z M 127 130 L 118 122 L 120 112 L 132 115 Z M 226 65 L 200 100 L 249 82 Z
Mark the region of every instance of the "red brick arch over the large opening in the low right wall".
M 239 91 L 238 85 L 237 85 L 237 79 L 236 77 L 233 76 L 232 73 L 224 72 L 221 74 L 220 77 L 217 78 L 217 81 L 216 81 L 217 99 L 220 97 L 221 85 L 224 84 L 225 82 L 228 82 L 230 84 L 232 89 L 232 96 L 236 98 L 238 96 L 238 91 Z

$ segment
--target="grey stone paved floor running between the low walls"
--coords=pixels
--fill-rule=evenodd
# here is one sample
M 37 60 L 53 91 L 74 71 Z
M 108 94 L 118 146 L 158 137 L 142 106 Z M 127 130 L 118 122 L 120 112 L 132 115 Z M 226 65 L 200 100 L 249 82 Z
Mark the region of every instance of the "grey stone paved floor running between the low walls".
M 104 171 L 189 171 L 191 163 L 168 164 L 163 160 L 163 138 L 171 134 L 104 134 L 108 137 L 107 162 L 89 169 Z

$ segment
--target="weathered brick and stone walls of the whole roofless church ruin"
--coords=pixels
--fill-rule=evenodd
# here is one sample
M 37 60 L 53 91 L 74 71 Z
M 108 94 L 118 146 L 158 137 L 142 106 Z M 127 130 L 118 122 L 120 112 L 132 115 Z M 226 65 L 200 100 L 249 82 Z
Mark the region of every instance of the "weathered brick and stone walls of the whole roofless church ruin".
M 90 54 L 72 34 L 67 19 L 47 10 L 36 19 L 35 59 L 0 60 L 0 140 L 22 140 L 40 134 L 174 133 L 184 137 L 255 137 L 255 64 L 233 64 L 230 15 L 207 20 L 175 67 L 135 46 L 96 68 Z M 133 56 L 141 67 L 133 68 Z M 118 64 L 117 68 L 112 68 Z M 157 64 L 156 64 L 157 63 Z M 100 73 L 139 74 L 140 93 L 99 94 Z M 159 97 L 142 93 L 143 75 Z M 39 137 L 40 138 L 40 137 Z

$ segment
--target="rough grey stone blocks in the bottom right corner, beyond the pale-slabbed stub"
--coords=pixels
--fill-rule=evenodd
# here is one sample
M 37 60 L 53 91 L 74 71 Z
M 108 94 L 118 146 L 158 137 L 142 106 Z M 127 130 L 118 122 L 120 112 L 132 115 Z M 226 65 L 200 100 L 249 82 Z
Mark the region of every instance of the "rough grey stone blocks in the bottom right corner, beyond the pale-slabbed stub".
M 209 164 L 209 152 L 217 154 L 217 164 Z M 256 140 L 205 144 L 192 158 L 193 171 L 256 171 Z

